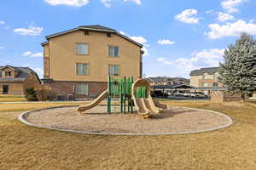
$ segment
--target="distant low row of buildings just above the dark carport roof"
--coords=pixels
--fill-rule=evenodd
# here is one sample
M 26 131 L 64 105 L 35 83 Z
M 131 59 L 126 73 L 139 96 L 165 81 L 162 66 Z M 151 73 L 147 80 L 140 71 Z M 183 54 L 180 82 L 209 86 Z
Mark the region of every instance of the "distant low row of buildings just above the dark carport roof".
M 189 84 L 189 79 L 183 77 L 148 77 L 151 86 L 170 84 Z

